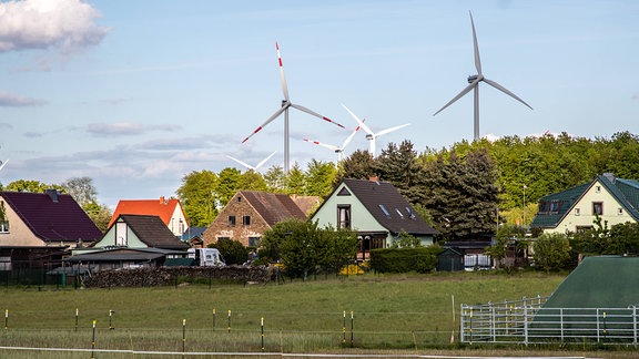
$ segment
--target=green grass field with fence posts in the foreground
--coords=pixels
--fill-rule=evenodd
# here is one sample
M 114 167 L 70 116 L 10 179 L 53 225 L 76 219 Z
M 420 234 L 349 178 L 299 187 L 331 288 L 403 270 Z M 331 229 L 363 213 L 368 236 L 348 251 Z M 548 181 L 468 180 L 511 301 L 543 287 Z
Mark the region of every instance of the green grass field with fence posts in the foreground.
M 6 288 L 0 296 L 0 309 L 7 310 L 0 346 L 87 350 L 94 339 L 97 349 L 125 350 L 97 352 L 100 358 L 158 357 L 146 351 L 183 349 L 190 353 L 526 352 L 530 349 L 450 345 L 453 310 L 458 318 L 459 304 L 548 296 L 562 279 L 484 271 L 366 274 L 247 286 Z M 90 353 L 0 349 L 2 358 L 39 356 L 89 358 Z

